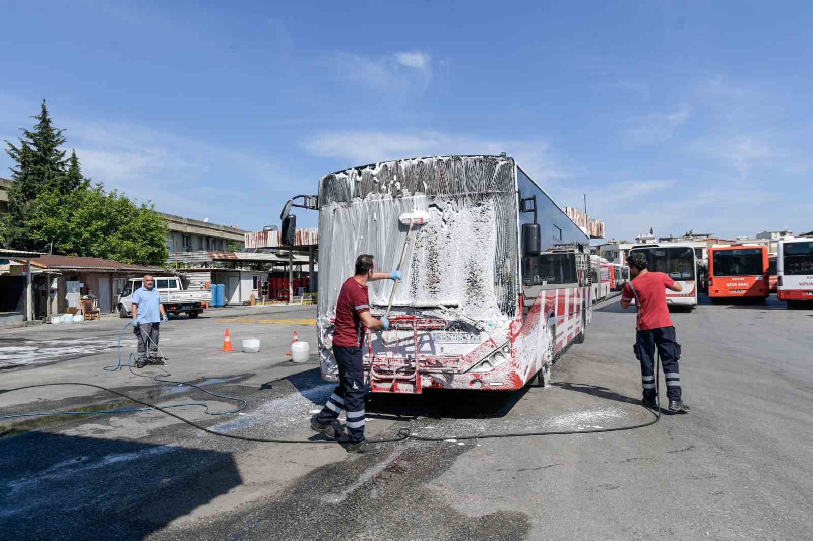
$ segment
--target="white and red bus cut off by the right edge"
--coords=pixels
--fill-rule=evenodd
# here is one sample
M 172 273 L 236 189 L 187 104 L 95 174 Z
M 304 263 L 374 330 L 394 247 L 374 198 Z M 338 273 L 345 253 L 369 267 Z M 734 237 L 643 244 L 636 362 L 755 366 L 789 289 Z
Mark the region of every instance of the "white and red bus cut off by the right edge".
M 813 238 L 779 241 L 776 298 L 788 306 L 813 303 Z

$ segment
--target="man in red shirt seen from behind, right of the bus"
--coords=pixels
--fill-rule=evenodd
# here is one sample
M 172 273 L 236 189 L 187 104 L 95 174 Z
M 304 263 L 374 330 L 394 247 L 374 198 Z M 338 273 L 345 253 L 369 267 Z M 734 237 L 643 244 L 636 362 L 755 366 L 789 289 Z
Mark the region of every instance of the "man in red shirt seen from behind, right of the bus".
M 689 406 L 683 403 L 680 389 L 680 344 L 675 335 L 675 325 L 669 317 L 666 305 L 666 288 L 672 291 L 683 291 L 680 283 L 663 272 L 651 272 L 647 269 L 646 256 L 633 252 L 627 258 L 629 273 L 633 279 L 624 286 L 621 293 L 621 308 L 628 308 L 635 299 L 637 325 L 635 327 L 635 345 L 633 351 L 641 361 L 641 384 L 644 397 L 641 402 L 649 408 L 656 408 L 655 401 L 655 347 L 666 376 L 666 396 L 669 399 L 669 411 L 689 413 Z

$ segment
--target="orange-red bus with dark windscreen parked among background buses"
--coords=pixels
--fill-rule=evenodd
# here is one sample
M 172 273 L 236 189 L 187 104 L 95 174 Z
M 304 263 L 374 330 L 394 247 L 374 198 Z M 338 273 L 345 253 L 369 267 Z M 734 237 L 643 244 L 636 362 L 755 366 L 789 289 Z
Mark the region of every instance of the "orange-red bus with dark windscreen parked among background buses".
M 720 298 L 766 299 L 767 247 L 763 245 L 714 245 L 709 249 L 708 295 Z

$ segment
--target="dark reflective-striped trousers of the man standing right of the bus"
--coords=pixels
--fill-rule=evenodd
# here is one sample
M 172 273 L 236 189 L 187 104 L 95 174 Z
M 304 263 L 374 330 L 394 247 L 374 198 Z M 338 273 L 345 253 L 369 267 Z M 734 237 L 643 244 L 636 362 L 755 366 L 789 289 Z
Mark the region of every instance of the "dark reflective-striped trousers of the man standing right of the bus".
M 648 331 L 635 331 L 635 357 L 641 361 L 641 384 L 644 399 L 655 397 L 655 348 L 661 357 L 663 375 L 666 376 L 666 396 L 670 401 L 680 400 L 680 344 L 675 341 L 675 327 L 659 327 Z

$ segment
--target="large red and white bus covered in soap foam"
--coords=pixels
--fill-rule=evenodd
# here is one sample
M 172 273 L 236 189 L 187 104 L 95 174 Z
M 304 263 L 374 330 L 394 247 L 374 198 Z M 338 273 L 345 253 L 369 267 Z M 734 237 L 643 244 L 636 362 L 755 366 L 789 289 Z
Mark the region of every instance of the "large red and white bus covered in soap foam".
M 378 317 L 396 287 L 389 329 L 365 338 L 372 392 L 511 391 L 537 375 L 546 383 L 559 353 L 585 340 L 589 238 L 513 158 L 414 158 L 337 171 L 320 179 L 317 206 L 323 379 L 338 379 L 336 301 L 355 258 L 371 253 L 376 269 L 391 271 L 405 246 L 402 282 L 369 284 Z M 431 219 L 410 241 L 398 216 L 415 210 Z

